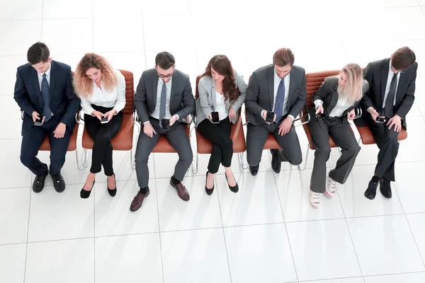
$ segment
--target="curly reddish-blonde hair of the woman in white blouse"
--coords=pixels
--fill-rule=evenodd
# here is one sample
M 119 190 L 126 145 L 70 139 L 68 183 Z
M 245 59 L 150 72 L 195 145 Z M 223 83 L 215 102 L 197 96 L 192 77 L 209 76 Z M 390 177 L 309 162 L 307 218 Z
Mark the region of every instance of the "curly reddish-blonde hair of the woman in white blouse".
M 107 91 L 112 91 L 118 80 L 111 64 L 101 55 L 86 53 L 75 69 L 74 90 L 77 95 L 87 98 L 93 93 L 93 80 L 86 76 L 86 71 L 90 68 L 101 70 L 103 86 Z

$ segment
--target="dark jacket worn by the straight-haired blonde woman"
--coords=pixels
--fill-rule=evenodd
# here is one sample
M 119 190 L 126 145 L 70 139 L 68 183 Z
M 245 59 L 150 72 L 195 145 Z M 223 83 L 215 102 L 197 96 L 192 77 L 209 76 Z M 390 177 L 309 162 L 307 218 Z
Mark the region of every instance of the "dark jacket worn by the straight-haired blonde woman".
M 329 117 L 331 111 L 334 110 L 336 103 L 338 103 L 339 93 L 338 93 L 338 78 L 336 76 L 328 76 L 324 79 L 322 86 L 317 90 L 313 95 L 313 103 L 316 100 L 323 101 L 323 112 L 324 115 Z M 363 80 L 363 96 L 366 91 L 368 91 L 369 83 L 366 80 Z M 356 108 L 360 100 L 357 100 L 353 105 L 351 105 L 348 109 L 346 109 L 343 113 L 344 120 L 347 119 L 347 113 Z M 313 106 L 314 107 L 314 106 Z

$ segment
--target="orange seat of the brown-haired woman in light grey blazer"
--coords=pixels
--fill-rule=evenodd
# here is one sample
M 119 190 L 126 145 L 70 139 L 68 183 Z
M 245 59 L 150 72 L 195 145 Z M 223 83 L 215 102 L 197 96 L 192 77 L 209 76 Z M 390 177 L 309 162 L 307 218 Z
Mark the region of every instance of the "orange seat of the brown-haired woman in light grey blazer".
M 239 115 L 236 123 L 231 125 L 230 138 L 233 141 L 233 152 L 240 153 L 246 150 L 244 126 L 242 125 L 242 117 Z M 212 142 L 205 139 L 202 134 L 196 131 L 196 144 L 198 154 L 210 154 L 212 151 Z

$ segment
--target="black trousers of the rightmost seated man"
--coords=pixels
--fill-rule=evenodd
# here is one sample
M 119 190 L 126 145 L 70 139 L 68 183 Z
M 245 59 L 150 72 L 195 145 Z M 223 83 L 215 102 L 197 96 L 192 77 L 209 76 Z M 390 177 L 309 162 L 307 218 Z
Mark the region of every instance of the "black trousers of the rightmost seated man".
M 399 133 L 395 132 L 394 126 L 388 129 L 387 122 L 380 124 L 370 119 L 368 126 L 380 149 L 378 163 L 375 167 L 375 176 L 384 178 L 385 180 L 395 181 L 394 164 L 399 149 Z

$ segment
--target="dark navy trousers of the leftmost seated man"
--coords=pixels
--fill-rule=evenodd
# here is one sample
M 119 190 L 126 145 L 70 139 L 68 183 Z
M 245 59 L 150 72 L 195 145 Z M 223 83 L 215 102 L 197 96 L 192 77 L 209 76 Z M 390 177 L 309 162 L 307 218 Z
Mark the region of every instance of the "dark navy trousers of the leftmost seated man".
M 64 166 L 71 133 L 67 129 L 62 139 L 55 138 L 53 131 L 55 131 L 59 123 L 60 121 L 55 116 L 52 116 L 50 120 L 43 123 L 40 127 L 34 126 L 23 134 L 21 162 L 35 175 L 45 175 L 47 173 L 47 165 L 37 158 L 38 149 L 40 149 L 46 135 L 49 136 L 50 144 L 50 174 L 59 174 L 62 166 Z

